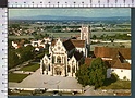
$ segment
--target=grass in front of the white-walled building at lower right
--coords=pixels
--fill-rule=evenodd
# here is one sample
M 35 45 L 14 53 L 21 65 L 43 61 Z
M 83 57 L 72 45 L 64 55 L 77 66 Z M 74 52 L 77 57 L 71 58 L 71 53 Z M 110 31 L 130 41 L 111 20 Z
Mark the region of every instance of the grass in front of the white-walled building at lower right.
M 100 87 L 101 89 L 131 89 L 131 82 L 130 81 L 116 81 L 116 82 L 112 82 L 108 83 Z

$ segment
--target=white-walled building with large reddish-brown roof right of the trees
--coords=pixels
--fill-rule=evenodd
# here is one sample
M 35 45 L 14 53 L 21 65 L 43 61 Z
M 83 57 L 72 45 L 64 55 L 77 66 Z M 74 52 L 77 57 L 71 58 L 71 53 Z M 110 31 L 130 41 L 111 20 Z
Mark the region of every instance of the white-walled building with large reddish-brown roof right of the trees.
M 131 81 L 131 48 L 95 47 L 94 54 L 108 62 L 107 78 L 115 73 L 120 79 Z

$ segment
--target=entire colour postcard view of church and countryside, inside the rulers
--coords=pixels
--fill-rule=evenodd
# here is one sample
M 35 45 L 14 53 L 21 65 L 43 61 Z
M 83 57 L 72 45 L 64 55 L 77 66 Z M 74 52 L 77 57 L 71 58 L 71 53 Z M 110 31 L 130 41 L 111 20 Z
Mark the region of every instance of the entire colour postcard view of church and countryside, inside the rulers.
M 9 9 L 9 96 L 131 96 L 131 10 Z

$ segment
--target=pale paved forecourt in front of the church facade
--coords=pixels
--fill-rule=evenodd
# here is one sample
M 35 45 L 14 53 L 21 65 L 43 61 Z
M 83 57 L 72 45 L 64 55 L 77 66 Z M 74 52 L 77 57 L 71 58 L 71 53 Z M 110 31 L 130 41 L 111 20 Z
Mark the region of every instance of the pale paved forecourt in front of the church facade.
M 82 90 L 82 85 L 74 77 L 49 76 L 36 72 L 24 78 L 21 83 L 9 82 L 9 88 L 47 88 L 47 89 L 74 89 Z

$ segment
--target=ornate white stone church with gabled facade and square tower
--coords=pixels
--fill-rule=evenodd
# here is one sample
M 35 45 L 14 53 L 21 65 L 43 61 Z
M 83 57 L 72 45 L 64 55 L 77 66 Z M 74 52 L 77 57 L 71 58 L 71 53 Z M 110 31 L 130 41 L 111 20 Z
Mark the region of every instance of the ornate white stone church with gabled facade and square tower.
M 76 71 L 88 56 L 89 26 L 82 26 L 79 38 L 57 38 L 49 46 L 49 54 L 40 60 L 40 73 L 75 77 Z

